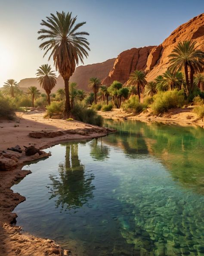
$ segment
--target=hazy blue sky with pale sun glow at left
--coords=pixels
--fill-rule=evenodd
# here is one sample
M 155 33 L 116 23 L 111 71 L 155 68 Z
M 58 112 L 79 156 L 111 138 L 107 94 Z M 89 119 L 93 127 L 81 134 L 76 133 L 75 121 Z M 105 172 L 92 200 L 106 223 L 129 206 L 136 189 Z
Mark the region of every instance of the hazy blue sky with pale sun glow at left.
M 133 47 L 161 44 L 182 23 L 204 12 L 203 0 L 0 0 L 0 87 L 35 77 L 43 58 L 37 31 L 56 11 L 72 12 L 90 33 L 84 64 L 103 62 Z M 81 65 L 81 64 L 80 64 Z M 58 73 L 57 73 L 58 74 Z

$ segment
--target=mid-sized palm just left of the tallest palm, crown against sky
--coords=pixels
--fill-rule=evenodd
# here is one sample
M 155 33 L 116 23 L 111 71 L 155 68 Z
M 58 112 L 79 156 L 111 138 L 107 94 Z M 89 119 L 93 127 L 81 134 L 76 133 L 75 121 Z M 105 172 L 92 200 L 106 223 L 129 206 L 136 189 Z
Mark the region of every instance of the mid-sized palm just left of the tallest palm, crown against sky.
M 51 90 L 56 85 L 56 74 L 52 71 L 51 66 L 48 64 L 42 65 L 37 69 L 37 81 L 39 81 L 40 86 L 46 91 L 47 103 L 50 105 L 50 93 Z

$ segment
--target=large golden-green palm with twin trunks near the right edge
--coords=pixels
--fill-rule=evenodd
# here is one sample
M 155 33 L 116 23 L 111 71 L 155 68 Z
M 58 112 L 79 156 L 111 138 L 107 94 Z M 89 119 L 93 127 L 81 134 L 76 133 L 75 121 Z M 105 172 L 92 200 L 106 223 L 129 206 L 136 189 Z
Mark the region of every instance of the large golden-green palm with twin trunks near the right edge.
M 202 72 L 204 68 L 204 52 L 198 50 L 195 46 L 196 42 L 184 41 L 179 43 L 169 55 L 170 69 L 173 72 L 184 69 L 187 90 L 189 85 L 193 87 L 193 76 L 195 73 Z M 190 83 L 189 83 L 190 73 Z

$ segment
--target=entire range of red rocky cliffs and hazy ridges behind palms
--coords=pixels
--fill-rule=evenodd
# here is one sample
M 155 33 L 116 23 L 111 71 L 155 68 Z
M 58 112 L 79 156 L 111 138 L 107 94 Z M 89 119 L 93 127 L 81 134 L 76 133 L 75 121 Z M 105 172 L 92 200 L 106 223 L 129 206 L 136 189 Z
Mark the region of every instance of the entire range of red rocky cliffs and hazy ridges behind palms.
M 169 67 L 168 55 L 173 48 L 179 42 L 190 40 L 196 41 L 199 48 L 204 50 L 204 13 L 180 25 L 158 46 L 132 48 L 120 53 L 116 59 L 77 67 L 70 81 L 77 82 L 80 89 L 89 91 L 87 84 L 92 76 L 100 78 L 106 85 L 110 85 L 114 80 L 125 83 L 135 69 L 144 70 L 147 80 L 151 81 L 167 70 Z M 28 88 L 31 85 L 43 91 L 36 78 L 25 78 L 19 82 L 19 86 L 23 88 Z M 53 92 L 57 91 L 59 87 L 64 87 L 61 76 L 57 78 Z

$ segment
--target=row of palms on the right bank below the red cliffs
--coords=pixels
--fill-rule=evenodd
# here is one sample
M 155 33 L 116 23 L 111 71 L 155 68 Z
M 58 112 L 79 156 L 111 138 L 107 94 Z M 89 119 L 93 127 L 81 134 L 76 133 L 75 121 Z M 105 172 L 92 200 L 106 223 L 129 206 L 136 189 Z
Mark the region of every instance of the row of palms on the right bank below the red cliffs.
M 192 41 L 184 41 L 179 43 L 169 55 L 170 67 L 162 75 L 158 75 L 154 81 L 147 82 L 146 74 L 142 70 L 135 70 L 130 74 L 126 84 L 121 84 L 119 81 L 114 81 L 110 87 L 101 84 L 99 78 L 90 78 L 89 88 L 96 94 L 100 90 L 102 100 L 104 96 L 112 97 L 112 100 L 117 101 L 117 106 L 121 106 L 121 98 L 126 100 L 131 95 L 137 94 L 140 100 L 140 94 L 144 96 L 153 96 L 158 91 L 171 91 L 175 88 L 184 89 L 189 95 L 197 86 L 201 91 L 204 91 L 204 52 L 198 50 L 196 43 Z M 182 73 L 184 71 L 184 74 Z

